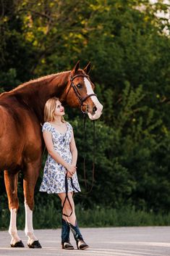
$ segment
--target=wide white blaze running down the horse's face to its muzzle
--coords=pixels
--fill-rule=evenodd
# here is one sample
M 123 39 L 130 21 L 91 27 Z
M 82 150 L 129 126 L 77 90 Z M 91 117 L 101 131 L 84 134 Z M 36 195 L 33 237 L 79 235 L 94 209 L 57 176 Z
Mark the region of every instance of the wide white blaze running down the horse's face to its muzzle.
M 90 95 L 90 94 L 94 94 L 94 91 L 93 91 L 93 88 L 89 82 L 89 80 L 87 78 L 84 78 L 84 81 L 85 81 L 85 87 L 87 89 L 87 94 Z M 96 96 L 90 96 L 90 99 L 93 101 L 93 103 L 95 104 L 95 107 L 97 108 L 97 110 L 95 111 L 95 114 L 94 115 L 91 115 L 89 112 L 88 112 L 88 117 L 91 119 L 91 120 L 95 120 L 95 119 L 98 119 L 100 116 L 101 116 L 101 113 L 102 113 L 102 110 L 103 110 L 103 106 L 100 102 L 98 102 L 98 98 Z

